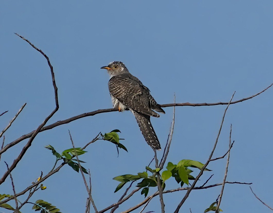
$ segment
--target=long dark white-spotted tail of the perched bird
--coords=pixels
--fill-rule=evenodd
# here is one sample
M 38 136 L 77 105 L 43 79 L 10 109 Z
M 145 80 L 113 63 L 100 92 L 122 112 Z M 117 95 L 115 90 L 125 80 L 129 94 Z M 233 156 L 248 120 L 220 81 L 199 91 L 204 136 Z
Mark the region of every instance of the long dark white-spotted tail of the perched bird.
M 148 145 L 156 150 L 161 150 L 160 143 L 155 134 L 155 130 L 153 129 L 153 126 L 150 122 L 150 116 L 136 111 L 132 111 L 132 113 L 135 115 L 140 131 Z

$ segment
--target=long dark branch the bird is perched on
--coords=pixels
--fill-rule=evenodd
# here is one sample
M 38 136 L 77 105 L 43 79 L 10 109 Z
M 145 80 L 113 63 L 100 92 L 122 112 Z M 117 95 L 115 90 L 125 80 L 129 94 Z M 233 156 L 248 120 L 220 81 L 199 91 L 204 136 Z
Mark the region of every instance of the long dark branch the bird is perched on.
M 265 88 L 264 90 L 262 90 L 261 92 L 258 92 L 257 94 L 255 95 L 252 95 L 250 97 L 247 97 L 247 98 L 243 98 L 241 100 L 238 100 L 238 101 L 233 101 L 233 102 L 230 102 L 230 104 L 236 104 L 238 102 L 242 102 L 242 101 L 245 101 L 245 100 L 248 100 L 250 98 L 253 98 L 259 94 L 261 94 L 262 92 L 266 91 L 266 89 L 268 89 L 269 87 L 271 87 L 273 84 L 269 85 L 267 88 Z M 218 102 L 218 103 L 197 103 L 197 104 L 194 104 L 194 103 L 170 103 L 170 104 L 162 104 L 160 105 L 161 107 L 170 107 L 170 106 L 214 106 L 214 105 L 226 105 L 226 104 L 229 104 L 229 103 L 224 103 L 224 102 Z M 97 114 L 100 114 L 100 113 L 106 113 L 106 112 L 116 112 L 118 111 L 118 109 L 99 109 L 99 110 L 96 110 L 96 111 L 93 111 L 93 112 L 87 112 L 87 113 L 83 113 L 81 115 L 77 115 L 77 116 L 73 116 L 71 118 L 68 118 L 68 119 L 65 119 L 63 121 L 57 121 L 53 124 L 50 124 L 48 126 L 44 126 L 43 128 L 41 128 L 40 132 L 42 131 L 45 131 L 45 130 L 48 130 L 48 129 L 52 129 L 56 126 L 60 126 L 60 125 L 63 125 L 63 124 L 68 124 L 72 121 L 75 121 L 77 119 L 80 119 L 80 118 L 84 118 L 84 117 L 87 117 L 87 116 L 93 116 L 93 115 L 97 115 Z M 2 150 L 0 150 L 0 154 L 7 151 L 7 149 L 9 149 L 10 147 L 16 145 L 17 143 L 19 143 L 20 141 L 22 140 L 25 140 L 26 138 L 29 138 L 31 137 L 31 135 L 34 134 L 34 131 L 32 132 L 29 132 L 28 134 L 25 134 L 23 136 L 21 136 L 20 138 L 17 138 L 16 140 L 12 141 L 11 143 L 7 144 Z

